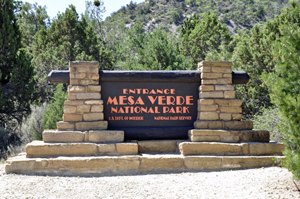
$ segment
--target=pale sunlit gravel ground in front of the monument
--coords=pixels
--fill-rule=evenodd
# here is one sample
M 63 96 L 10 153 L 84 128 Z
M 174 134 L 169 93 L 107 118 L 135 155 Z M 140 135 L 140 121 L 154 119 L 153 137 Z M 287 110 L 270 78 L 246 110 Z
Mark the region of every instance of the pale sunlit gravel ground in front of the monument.
M 4 173 L 0 198 L 300 198 L 285 168 L 104 177 Z

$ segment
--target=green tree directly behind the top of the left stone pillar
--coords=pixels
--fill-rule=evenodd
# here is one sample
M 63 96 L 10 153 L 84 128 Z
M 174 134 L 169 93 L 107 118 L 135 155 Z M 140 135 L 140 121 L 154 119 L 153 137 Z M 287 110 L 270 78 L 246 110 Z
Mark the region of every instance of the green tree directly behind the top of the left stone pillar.
M 67 70 L 69 61 L 99 61 L 101 69 L 113 69 L 110 51 L 101 41 L 87 19 L 80 20 L 73 5 L 58 14 L 50 27 L 41 27 L 33 39 L 32 63 L 37 70 L 43 100 L 53 95 L 47 85 L 48 73 Z

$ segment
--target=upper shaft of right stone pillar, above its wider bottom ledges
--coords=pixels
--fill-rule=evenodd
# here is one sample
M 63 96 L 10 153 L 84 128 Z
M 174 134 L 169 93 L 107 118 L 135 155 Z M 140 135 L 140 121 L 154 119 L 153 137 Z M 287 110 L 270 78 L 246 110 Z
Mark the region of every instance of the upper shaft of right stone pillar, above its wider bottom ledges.
M 198 120 L 241 120 L 241 100 L 235 99 L 232 62 L 201 62 Z

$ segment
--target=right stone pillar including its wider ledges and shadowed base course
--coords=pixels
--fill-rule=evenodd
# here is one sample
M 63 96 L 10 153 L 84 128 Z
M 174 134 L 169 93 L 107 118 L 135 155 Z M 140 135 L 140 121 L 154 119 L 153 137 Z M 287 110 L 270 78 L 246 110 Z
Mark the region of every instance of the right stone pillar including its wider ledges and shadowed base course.
M 268 131 L 253 131 L 253 122 L 241 121 L 242 101 L 235 99 L 232 62 L 207 62 L 201 71 L 198 115 L 189 138 L 193 142 L 269 141 Z

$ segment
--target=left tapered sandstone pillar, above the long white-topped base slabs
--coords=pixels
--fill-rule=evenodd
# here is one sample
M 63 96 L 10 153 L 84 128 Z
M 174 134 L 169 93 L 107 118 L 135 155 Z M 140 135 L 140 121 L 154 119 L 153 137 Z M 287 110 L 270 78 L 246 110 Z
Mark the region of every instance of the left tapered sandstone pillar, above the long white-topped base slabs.
M 64 103 L 63 121 L 57 123 L 57 129 L 107 129 L 107 121 L 103 121 L 98 62 L 70 62 L 69 71 L 69 100 Z

